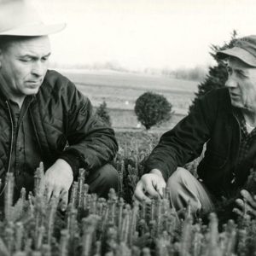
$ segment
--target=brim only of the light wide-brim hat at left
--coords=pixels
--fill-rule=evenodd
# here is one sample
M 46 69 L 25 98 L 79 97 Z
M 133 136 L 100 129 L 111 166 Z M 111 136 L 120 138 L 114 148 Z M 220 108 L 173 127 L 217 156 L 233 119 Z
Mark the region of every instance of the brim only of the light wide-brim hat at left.
M 15 27 L 8 31 L 0 32 L 0 36 L 37 37 L 61 32 L 66 27 L 65 23 L 45 25 L 44 23 Z

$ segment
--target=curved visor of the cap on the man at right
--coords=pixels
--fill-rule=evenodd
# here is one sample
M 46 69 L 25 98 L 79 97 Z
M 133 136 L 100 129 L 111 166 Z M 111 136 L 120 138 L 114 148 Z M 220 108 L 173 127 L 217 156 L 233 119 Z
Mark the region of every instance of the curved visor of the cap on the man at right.
M 220 60 L 223 60 L 229 56 L 236 57 L 239 60 L 245 62 L 247 65 L 256 67 L 256 58 L 251 55 L 247 50 L 240 47 L 233 47 L 230 49 L 224 49 L 217 52 L 217 56 Z

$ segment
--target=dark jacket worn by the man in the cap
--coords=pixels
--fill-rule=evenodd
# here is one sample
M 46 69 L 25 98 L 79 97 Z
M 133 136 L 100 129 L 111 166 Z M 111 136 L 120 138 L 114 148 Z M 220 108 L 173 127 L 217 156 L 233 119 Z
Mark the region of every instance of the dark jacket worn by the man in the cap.
M 160 138 L 149 156 L 147 170 L 158 168 L 167 180 L 177 166 L 184 166 L 200 156 L 204 143 L 207 143 L 204 158 L 197 168 L 198 176 L 213 194 L 229 193 L 240 133 L 228 89 L 212 90 L 172 131 Z

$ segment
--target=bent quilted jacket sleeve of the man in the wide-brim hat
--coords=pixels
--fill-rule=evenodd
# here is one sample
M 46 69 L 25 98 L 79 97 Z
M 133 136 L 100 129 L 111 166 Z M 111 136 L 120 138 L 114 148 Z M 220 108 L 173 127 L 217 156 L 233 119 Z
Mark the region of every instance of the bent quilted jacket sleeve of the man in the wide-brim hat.
M 90 100 L 70 81 L 66 84 L 62 102 L 66 106 L 65 130 L 69 144 L 63 152 L 63 159 L 67 159 L 67 154 L 71 159 L 75 156 L 79 166 L 88 171 L 113 160 L 118 149 L 113 129 L 93 113 Z

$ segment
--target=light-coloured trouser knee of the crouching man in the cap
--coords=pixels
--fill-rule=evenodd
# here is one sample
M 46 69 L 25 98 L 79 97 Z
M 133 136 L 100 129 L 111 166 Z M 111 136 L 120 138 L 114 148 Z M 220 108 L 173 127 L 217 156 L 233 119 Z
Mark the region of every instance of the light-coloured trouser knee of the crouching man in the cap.
M 167 181 L 170 190 L 172 207 L 181 210 L 187 207 L 188 202 L 191 212 L 212 212 L 214 206 L 210 195 L 204 186 L 186 169 L 178 167 Z

